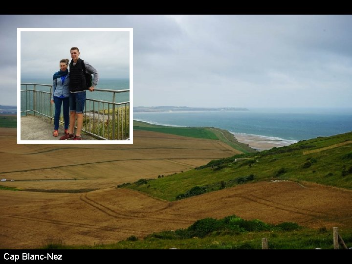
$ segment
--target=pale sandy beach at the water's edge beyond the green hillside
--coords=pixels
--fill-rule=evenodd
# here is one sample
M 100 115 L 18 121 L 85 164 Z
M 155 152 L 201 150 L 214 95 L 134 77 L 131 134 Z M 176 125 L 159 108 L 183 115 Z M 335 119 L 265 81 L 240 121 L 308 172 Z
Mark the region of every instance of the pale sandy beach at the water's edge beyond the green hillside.
M 233 134 L 239 142 L 247 144 L 249 147 L 256 150 L 269 150 L 274 147 L 283 147 L 297 142 L 295 140 L 286 140 L 282 138 L 269 137 L 269 136 L 241 134 L 241 133 L 233 133 Z

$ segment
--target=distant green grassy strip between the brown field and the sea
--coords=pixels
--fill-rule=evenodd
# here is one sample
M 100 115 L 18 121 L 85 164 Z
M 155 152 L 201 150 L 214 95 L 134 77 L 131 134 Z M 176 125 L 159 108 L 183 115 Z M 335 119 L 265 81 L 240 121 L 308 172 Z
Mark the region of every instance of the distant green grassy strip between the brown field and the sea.
M 146 122 L 133 120 L 133 130 L 145 130 L 153 132 L 168 133 L 180 136 L 189 136 L 196 138 L 206 138 L 220 140 L 230 147 L 243 153 L 254 153 L 256 150 L 248 147 L 248 145 L 240 143 L 230 132 L 219 128 L 210 127 L 169 127 L 154 125 Z

